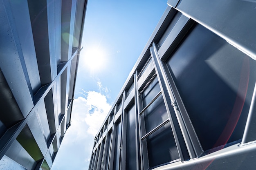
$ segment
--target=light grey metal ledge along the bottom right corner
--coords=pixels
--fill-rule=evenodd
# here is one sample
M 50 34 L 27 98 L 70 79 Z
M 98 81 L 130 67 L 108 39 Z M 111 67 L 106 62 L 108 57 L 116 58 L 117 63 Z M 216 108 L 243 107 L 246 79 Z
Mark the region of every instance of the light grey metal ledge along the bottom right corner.
M 239 147 L 237 144 L 223 148 L 198 159 L 184 163 L 172 163 L 155 170 L 254 170 L 256 144 Z

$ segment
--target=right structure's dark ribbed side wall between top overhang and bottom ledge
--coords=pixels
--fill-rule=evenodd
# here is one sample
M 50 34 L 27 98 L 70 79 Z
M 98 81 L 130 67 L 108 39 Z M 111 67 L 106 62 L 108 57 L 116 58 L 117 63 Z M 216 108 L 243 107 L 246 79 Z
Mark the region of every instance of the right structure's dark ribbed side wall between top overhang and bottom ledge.
M 100 147 L 102 170 L 195 169 L 190 164 L 207 169 L 219 160 L 229 161 L 221 154 L 241 142 L 256 61 L 172 12 L 169 26 L 148 46 L 97 134 L 91 169 L 100 162 Z

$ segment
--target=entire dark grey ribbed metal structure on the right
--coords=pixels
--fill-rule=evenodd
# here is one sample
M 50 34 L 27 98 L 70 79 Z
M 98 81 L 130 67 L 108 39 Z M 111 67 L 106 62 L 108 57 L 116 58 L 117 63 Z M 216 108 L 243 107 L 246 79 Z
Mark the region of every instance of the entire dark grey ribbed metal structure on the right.
M 255 169 L 256 1 L 167 4 L 89 169 Z

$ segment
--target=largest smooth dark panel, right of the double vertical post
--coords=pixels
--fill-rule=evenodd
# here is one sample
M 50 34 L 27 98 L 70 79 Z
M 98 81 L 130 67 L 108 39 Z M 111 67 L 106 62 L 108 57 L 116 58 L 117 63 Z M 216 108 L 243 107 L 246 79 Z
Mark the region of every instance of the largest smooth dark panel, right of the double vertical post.
M 167 64 L 204 150 L 241 139 L 256 62 L 197 25 Z

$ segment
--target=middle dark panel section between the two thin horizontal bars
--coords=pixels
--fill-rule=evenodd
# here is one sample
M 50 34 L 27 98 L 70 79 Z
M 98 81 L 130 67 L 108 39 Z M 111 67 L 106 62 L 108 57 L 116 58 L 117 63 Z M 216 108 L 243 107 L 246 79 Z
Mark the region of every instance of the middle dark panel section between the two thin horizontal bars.
M 146 133 L 168 119 L 162 94 L 145 110 L 144 120 Z

